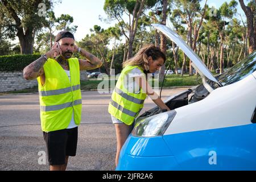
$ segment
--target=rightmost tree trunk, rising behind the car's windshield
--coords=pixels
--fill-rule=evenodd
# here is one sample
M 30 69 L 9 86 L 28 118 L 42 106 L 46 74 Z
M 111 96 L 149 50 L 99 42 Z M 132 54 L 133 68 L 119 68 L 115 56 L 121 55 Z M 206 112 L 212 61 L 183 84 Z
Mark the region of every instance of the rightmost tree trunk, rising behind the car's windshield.
M 253 12 L 250 7 L 245 6 L 245 3 L 243 2 L 243 0 L 239 0 L 239 2 L 242 7 L 242 10 L 245 12 L 246 19 L 247 19 L 249 53 L 251 53 L 256 49 L 256 19 L 254 19 L 255 12 Z

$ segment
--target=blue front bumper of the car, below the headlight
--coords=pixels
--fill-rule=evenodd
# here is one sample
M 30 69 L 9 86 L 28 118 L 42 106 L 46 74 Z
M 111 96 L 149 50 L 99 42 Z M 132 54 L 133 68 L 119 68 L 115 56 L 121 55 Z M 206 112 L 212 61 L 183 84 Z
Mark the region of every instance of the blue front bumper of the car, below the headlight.
M 129 135 L 119 155 L 116 170 L 164 171 L 180 170 L 163 137 Z

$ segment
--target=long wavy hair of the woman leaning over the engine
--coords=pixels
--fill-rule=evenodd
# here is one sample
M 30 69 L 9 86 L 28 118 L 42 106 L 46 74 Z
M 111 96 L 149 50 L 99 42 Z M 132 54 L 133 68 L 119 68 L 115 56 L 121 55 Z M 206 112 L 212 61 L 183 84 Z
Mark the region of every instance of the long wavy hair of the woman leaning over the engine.
M 152 57 L 152 60 L 162 57 L 164 62 L 166 61 L 166 55 L 164 55 L 164 53 L 158 47 L 155 47 L 153 44 L 147 44 L 139 49 L 135 56 L 123 62 L 123 68 L 127 65 L 138 65 L 139 67 L 142 67 L 144 70 L 148 71 L 148 57 L 150 56 Z

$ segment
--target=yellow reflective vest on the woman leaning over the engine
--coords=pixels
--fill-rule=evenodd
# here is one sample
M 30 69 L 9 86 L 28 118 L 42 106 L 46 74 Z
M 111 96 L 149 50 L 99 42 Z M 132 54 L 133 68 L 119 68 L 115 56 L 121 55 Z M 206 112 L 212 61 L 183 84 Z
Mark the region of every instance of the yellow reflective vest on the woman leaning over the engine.
M 144 100 L 147 96 L 146 93 L 143 93 L 141 88 L 138 94 L 131 93 L 127 90 L 128 86 L 125 84 L 127 84 L 127 79 L 129 79 L 130 71 L 134 68 L 140 69 L 143 73 L 141 67 L 127 65 L 118 78 L 109 103 L 109 113 L 113 115 L 113 117 L 126 123 L 126 125 L 131 125 L 133 123 L 134 118 L 137 117 L 142 110 Z

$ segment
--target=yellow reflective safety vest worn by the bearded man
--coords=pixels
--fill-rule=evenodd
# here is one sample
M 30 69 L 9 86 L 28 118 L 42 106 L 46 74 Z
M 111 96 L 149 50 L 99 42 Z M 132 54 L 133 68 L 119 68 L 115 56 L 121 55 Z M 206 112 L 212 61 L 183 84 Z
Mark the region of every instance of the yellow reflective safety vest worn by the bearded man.
M 38 77 L 40 118 L 43 131 L 66 129 L 74 113 L 76 125 L 81 121 L 80 67 L 77 58 L 68 59 L 71 81 L 61 65 L 53 59 L 44 64 L 46 82 Z

